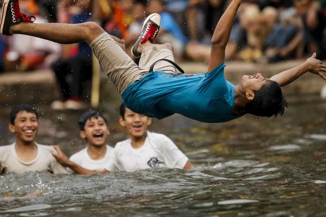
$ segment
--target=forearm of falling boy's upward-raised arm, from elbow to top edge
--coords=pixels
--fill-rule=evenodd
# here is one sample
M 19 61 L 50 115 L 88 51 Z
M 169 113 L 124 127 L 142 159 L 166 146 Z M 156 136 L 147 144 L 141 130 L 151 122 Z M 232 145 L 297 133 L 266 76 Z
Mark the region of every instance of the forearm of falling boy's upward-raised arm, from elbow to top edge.
M 223 13 L 222 17 L 218 21 L 213 37 L 212 37 L 212 44 L 222 44 L 227 45 L 231 30 L 232 30 L 232 23 L 235 19 L 237 11 L 240 7 L 242 0 L 233 0 L 227 10 Z

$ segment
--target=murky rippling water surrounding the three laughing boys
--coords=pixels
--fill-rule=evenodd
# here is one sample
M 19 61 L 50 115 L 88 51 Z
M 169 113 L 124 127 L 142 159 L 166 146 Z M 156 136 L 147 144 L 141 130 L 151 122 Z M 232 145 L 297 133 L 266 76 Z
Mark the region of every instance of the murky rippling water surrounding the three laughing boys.
M 174 115 L 155 121 L 151 130 L 175 141 L 195 165 L 190 171 L 0 177 L 0 210 L 22 207 L 0 215 L 326 216 L 326 103 L 289 101 L 283 118 L 205 124 Z M 39 143 L 59 144 L 68 155 L 84 147 L 77 129 L 81 113 L 39 109 Z M 111 145 L 126 137 L 114 111 L 117 105 L 106 111 Z M 7 119 L 0 115 L 1 144 L 13 142 Z M 35 191 L 43 196 L 4 199 Z

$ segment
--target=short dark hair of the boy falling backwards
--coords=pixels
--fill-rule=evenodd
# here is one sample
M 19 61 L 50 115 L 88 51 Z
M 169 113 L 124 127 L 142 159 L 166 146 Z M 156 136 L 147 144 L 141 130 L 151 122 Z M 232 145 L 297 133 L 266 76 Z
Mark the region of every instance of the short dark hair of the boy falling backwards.
M 254 99 L 245 105 L 244 112 L 261 117 L 283 116 L 288 106 L 279 83 L 266 80 L 259 90 L 254 91 Z

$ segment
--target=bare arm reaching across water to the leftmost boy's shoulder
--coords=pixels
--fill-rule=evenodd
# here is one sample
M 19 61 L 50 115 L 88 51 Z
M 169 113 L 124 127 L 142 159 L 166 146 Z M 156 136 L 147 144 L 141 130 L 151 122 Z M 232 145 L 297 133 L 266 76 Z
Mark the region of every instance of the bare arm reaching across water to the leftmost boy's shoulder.
M 75 164 L 71 160 L 68 159 L 68 157 L 63 153 L 63 151 L 60 149 L 59 146 L 54 146 L 57 153 L 52 153 L 52 155 L 58 160 L 58 162 L 64 166 L 70 168 L 73 172 L 77 174 L 83 174 L 83 175 L 96 175 L 96 174 L 103 174 L 107 173 L 109 171 L 103 170 L 103 171 L 93 171 L 93 170 L 87 170 L 78 164 Z

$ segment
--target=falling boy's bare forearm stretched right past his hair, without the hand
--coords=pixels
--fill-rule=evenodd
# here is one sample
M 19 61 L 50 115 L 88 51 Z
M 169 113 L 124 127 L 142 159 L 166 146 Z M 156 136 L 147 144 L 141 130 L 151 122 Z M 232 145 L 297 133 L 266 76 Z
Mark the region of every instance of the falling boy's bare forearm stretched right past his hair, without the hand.
M 294 67 L 292 69 L 286 70 L 284 72 L 281 72 L 277 75 L 272 76 L 270 79 L 274 80 L 275 82 L 279 83 L 281 87 L 286 86 L 290 83 L 292 83 L 294 80 L 296 80 L 301 75 L 305 74 L 309 71 L 309 64 L 307 62 Z

